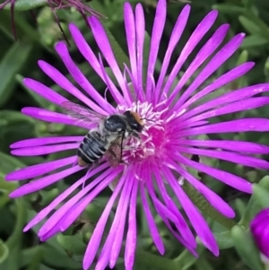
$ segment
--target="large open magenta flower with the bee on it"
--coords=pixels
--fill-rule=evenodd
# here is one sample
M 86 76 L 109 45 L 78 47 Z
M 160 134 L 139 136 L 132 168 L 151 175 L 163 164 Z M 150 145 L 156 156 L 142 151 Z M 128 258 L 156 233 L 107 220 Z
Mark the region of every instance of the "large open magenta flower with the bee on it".
M 40 240 L 48 240 L 48 238 L 57 232 L 65 231 L 104 188 L 108 186 L 112 187 L 112 196 L 109 198 L 108 204 L 101 214 L 99 222 L 96 224 L 88 248 L 85 251 L 83 259 L 84 269 L 88 269 L 91 266 L 97 250 L 100 248 L 100 240 L 108 221 L 108 215 L 117 198 L 117 212 L 108 232 L 107 239 L 100 249 L 96 269 L 104 269 L 107 265 L 110 267 L 115 266 L 123 242 L 126 243 L 126 269 L 133 268 L 136 246 L 136 198 L 138 196 L 142 200 L 143 211 L 152 234 L 152 240 L 161 255 L 164 254 L 164 244 L 146 200 L 147 194 L 151 197 L 157 213 L 159 213 L 163 222 L 166 223 L 175 238 L 196 256 L 195 235 L 189 229 L 187 221 L 178 210 L 176 203 L 170 198 L 167 190 L 168 186 L 173 189 L 178 202 L 182 205 L 182 209 L 187 214 L 189 222 L 192 224 L 195 233 L 204 243 L 204 246 L 210 249 L 215 256 L 218 256 L 219 248 L 216 240 L 214 240 L 213 232 L 204 221 L 202 214 L 184 192 L 182 188 L 184 181 L 193 185 L 223 215 L 232 218 L 235 213 L 230 205 L 198 179 L 195 179 L 187 169 L 193 168 L 201 171 L 242 192 L 251 193 L 251 184 L 246 179 L 242 179 L 223 170 L 212 168 L 198 161 L 192 161 L 189 157 L 195 154 L 253 168 L 266 170 L 269 168 L 267 161 L 252 156 L 269 153 L 269 147 L 265 145 L 244 141 L 200 140 L 195 138 L 197 135 L 268 131 L 269 120 L 264 118 L 239 118 L 215 124 L 210 124 L 209 119 L 267 105 L 269 98 L 256 97 L 256 94 L 269 91 L 269 84 L 258 84 L 235 91 L 228 91 L 214 100 L 197 104 L 206 95 L 246 74 L 254 65 L 250 62 L 239 65 L 226 74 L 222 74 L 221 77 L 208 84 L 202 90 L 197 91 L 198 88 L 201 89 L 205 80 L 239 48 L 244 39 L 244 34 L 239 33 L 219 48 L 229 30 L 229 25 L 223 24 L 215 30 L 212 37 L 199 50 L 195 59 L 181 76 L 179 82 L 173 85 L 187 57 L 213 26 L 217 17 L 216 11 L 208 13 L 204 17 L 204 20 L 199 23 L 182 49 L 177 63 L 168 73 L 171 55 L 187 24 L 189 12 L 190 6 L 186 5 L 178 16 L 178 20 L 169 39 L 165 57 L 162 61 L 158 79 L 154 76 L 154 66 L 166 21 L 165 0 L 160 0 L 156 9 L 149 59 L 143 59 L 145 30 L 143 7 L 141 4 L 137 4 L 133 12 L 131 5 L 129 3 L 125 4 L 124 18 L 130 67 L 125 65 L 123 73 L 117 65 L 116 58 L 108 42 L 108 37 L 100 21 L 94 16 L 89 18 L 94 39 L 100 48 L 100 53 L 106 59 L 114 73 L 120 91 L 108 77 L 102 63 L 102 58 L 100 56 L 96 57 L 93 54 L 91 48 L 85 39 L 83 39 L 80 30 L 74 24 L 70 24 L 69 29 L 74 43 L 82 53 L 82 56 L 85 57 L 95 72 L 100 75 L 103 82 L 106 83 L 108 91 L 110 91 L 114 100 L 117 102 L 117 108 L 112 107 L 94 89 L 88 79 L 86 79 L 80 69 L 74 64 L 64 42 L 59 42 L 56 45 L 56 52 L 62 58 L 74 81 L 82 87 L 84 92 L 79 91 L 56 68 L 44 61 L 39 61 L 39 67 L 44 73 L 48 74 L 61 88 L 68 91 L 78 100 L 82 101 L 86 107 L 91 108 L 95 112 L 108 116 L 115 113 L 123 113 L 130 109 L 137 111 L 141 118 L 146 118 L 140 139 L 131 136 L 125 140 L 124 146 L 126 150 L 123 155 L 123 160 L 125 161 L 123 164 L 117 167 L 111 167 L 108 161 L 104 160 L 100 166 L 91 168 L 91 170 L 85 172 L 87 179 L 95 176 L 95 179 L 91 183 L 84 183 L 85 177 L 78 179 L 74 185 L 68 187 L 50 205 L 40 211 L 24 228 L 24 231 L 30 230 L 30 228 L 48 217 L 49 213 L 57 207 L 55 213 L 48 217 L 48 220 L 39 230 Z M 201 69 L 192 83 L 183 91 L 190 77 L 197 73 L 201 65 L 207 60 L 207 65 Z M 143 82 L 144 61 L 148 61 L 145 82 Z M 59 106 L 62 106 L 63 102 L 66 101 L 65 97 L 42 83 L 29 78 L 25 79 L 24 83 L 30 90 L 37 92 L 43 98 Z M 136 99 L 138 99 L 138 102 L 136 102 Z M 22 109 L 22 113 L 43 121 L 82 126 L 85 128 L 85 135 L 89 129 L 97 126 L 94 118 L 88 121 L 78 122 L 75 118 L 47 109 L 24 108 Z M 77 160 L 76 151 L 82 139 L 83 136 L 58 136 L 33 138 L 12 144 L 13 155 L 18 156 L 44 155 L 71 149 L 74 150 L 74 155 L 65 159 L 48 161 L 44 164 L 13 171 L 6 176 L 8 181 L 35 180 L 19 187 L 13 191 L 11 196 L 24 196 L 38 191 L 43 187 L 48 187 L 79 170 L 84 170 L 79 165 L 74 165 L 74 161 Z M 57 170 L 57 172 L 54 172 L 54 170 Z M 181 176 L 179 179 L 178 174 Z M 44 177 L 43 175 L 46 176 Z M 65 201 L 67 196 L 71 195 L 77 188 L 79 188 L 77 194 Z M 59 207 L 64 201 L 65 204 Z M 175 224 L 177 230 L 171 227 L 170 222 Z M 126 237 L 124 237 L 126 223 L 127 233 Z

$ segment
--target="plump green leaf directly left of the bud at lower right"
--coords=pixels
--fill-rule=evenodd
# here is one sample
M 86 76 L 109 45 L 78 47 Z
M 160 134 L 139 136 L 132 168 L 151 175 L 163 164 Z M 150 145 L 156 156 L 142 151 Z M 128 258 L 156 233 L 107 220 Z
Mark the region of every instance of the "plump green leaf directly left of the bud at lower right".
M 264 270 L 260 259 L 259 251 L 249 231 L 246 231 L 241 226 L 234 226 L 230 235 L 234 240 L 234 246 L 237 249 L 239 256 L 247 266 L 252 270 Z

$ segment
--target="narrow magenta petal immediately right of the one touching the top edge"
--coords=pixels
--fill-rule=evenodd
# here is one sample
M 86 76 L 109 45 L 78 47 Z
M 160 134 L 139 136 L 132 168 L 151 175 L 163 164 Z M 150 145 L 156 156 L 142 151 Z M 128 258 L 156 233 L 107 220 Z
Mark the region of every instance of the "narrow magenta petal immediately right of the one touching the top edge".
M 169 39 L 169 45 L 168 45 L 168 48 L 166 50 L 164 59 L 162 61 L 161 74 L 159 76 L 158 83 L 156 85 L 156 89 L 154 92 L 156 103 L 157 103 L 157 99 L 160 98 L 161 86 L 162 86 L 163 79 L 164 79 L 164 77 L 167 73 L 168 67 L 169 67 L 171 55 L 174 51 L 174 48 L 176 48 L 176 46 L 178 45 L 178 40 L 181 38 L 183 30 L 185 30 L 189 13 L 190 13 L 190 5 L 186 4 L 184 6 L 184 8 L 182 9 L 181 13 L 179 14 L 177 22 L 174 26 L 174 29 L 172 30 L 172 33 L 171 33 L 171 36 Z

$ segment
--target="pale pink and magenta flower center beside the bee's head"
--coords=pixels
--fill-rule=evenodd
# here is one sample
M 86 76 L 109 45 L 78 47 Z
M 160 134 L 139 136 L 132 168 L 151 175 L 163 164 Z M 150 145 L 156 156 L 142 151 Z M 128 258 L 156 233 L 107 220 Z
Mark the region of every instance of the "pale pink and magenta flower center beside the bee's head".
M 118 106 L 117 109 L 121 113 L 126 110 L 135 111 L 143 119 L 143 131 L 140 139 L 130 136 L 124 143 L 123 161 L 131 164 L 160 157 L 166 135 L 166 124 L 162 114 L 166 110 L 155 111 L 152 103 L 148 102 L 133 103 L 131 108 Z

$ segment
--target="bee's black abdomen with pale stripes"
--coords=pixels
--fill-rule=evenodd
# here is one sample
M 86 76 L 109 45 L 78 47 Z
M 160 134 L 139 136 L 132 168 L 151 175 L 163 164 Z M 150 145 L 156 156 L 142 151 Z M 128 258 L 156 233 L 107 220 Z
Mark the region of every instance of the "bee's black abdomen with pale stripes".
M 96 131 L 89 132 L 83 139 L 77 155 L 78 163 L 84 167 L 100 160 L 107 152 L 108 142 Z

